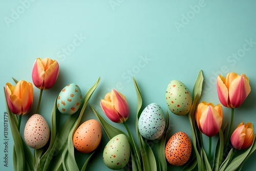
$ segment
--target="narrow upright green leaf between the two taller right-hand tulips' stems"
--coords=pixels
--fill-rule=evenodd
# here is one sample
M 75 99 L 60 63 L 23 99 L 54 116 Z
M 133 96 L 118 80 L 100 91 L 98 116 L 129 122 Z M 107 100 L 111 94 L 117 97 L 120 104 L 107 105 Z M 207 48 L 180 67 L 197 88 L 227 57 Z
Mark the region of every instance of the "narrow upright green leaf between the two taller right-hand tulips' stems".
M 214 170 L 218 171 L 219 167 L 221 166 L 222 157 L 223 157 L 223 149 L 224 149 L 224 137 L 222 130 L 219 131 L 219 140 L 217 142 L 215 148 L 215 158 L 214 158 Z

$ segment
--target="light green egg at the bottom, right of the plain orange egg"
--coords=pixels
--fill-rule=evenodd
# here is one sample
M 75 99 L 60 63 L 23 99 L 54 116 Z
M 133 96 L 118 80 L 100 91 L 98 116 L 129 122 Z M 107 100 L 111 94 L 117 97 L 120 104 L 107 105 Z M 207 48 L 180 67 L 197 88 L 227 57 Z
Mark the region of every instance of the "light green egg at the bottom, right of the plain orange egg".
M 123 168 L 130 158 L 130 144 L 124 134 L 113 137 L 103 150 L 103 161 L 105 165 L 113 170 Z

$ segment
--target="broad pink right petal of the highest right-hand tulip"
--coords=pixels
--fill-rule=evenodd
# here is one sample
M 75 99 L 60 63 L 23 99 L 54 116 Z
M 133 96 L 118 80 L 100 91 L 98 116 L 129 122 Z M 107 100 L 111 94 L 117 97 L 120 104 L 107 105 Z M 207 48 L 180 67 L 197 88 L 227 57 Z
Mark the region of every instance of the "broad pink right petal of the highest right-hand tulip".
M 243 76 L 234 79 L 229 87 L 231 108 L 238 108 L 244 102 L 250 91 L 249 82 Z

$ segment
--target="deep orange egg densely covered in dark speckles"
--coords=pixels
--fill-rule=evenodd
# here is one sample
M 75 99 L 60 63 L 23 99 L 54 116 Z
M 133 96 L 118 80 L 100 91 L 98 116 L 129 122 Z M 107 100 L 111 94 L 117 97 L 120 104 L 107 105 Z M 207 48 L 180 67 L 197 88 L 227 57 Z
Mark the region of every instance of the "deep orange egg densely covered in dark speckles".
M 181 166 L 188 161 L 191 151 L 191 141 L 187 134 L 177 132 L 165 145 L 165 158 L 170 164 Z

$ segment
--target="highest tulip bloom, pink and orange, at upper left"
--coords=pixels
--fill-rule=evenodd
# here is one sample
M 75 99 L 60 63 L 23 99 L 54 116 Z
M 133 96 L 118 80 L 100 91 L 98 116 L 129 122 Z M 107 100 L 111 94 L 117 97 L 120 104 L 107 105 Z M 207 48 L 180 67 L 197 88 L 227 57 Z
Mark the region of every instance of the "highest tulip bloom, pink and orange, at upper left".
M 40 90 L 50 89 L 55 83 L 59 73 L 59 65 L 56 60 L 50 58 L 37 58 L 32 69 L 32 80 Z

